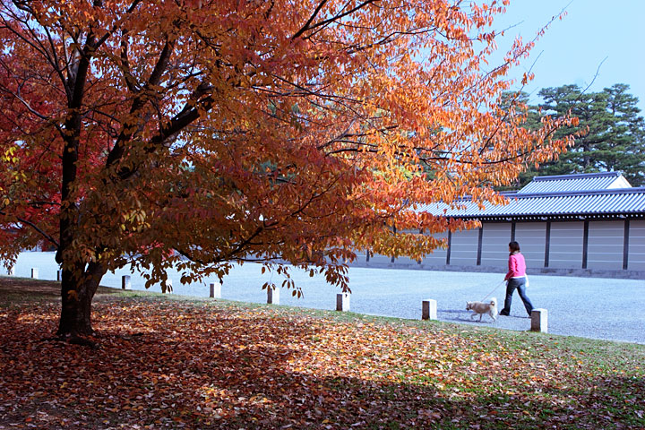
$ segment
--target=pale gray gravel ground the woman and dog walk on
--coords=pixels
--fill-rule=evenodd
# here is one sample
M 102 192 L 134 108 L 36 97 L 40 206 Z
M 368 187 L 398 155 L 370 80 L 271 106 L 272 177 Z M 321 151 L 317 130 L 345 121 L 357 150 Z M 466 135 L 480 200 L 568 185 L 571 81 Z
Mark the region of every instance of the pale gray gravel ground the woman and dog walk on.
M 56 279 L 53 253 L 21 254 L 16 276 L 29 277 L 31 267 L 39 268 L 40 279 Z M 108 273 L 101 285 L 120 288 L 121 276 L 127 274 L 132 276 L 133 289 L 144 289 L 142 277 L 127 269 Z M 348 274 L 353 312 L 419 319 L 422 300 L 434 298 L 441 321 L 515 331 L 530 328 L 530 319 L 517 292 L 513 296 L 511 316 L 499 316 L 496 322 L 487 315 L 481 323 L 470 320 L 467 301 L 481 300 L 494 291 L 491 297 L 496 297 L 500 306 L 503 305 L 503 269 L 500 273 L 460 273 L 350 268 Z M 207 297 L 208 282 L 215 281 L 182 286 L 176 271 L 169 271 L 168 276 L 173 280 L 176 294 L 197 297 Z M 291 297 L 291 291 L 282 288 L 282 305 L 317 309 L 335 307 L 338 288 L 327 285 L 322 277 L 310 278 L 303 271 L 294 270 L 292 277 L 297 286 L 302 287 L 305 297 Z M 645 280 L 537 275 L 529 278 L 527 294 L 535 307 L 547 309 L 550 333 L 645 344 Z M 224 280 L 222 297 L 265 303 L 266 292 L 262 291 L 262 284 L 272 281 L 280 285 L 282 280 L 284 277 L 277 274 L 262 275 L 259 264 L 236 266 Z M 160 291 L 160 288 L 155 286 L 150 290 Z

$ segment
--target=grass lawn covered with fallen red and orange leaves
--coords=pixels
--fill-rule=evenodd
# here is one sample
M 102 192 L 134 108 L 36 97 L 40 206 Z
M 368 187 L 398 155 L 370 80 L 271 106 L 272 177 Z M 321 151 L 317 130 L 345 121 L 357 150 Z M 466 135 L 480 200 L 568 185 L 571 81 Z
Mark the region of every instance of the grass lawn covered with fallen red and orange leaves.
M 0 277 L 0 429 L 645 428 L 643 345 L 101 288 L 88 348 L 58 288 Z

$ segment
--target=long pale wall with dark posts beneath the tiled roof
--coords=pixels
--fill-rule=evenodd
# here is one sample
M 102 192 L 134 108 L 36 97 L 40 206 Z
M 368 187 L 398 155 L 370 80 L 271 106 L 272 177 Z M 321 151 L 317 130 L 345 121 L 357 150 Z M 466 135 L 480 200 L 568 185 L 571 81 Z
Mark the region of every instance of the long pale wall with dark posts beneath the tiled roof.
M 548 228 L 550 224 L 550 228 Z M 622 271 L 624 269 L 624 220 L 593 220 L 588 222 L 586 269 L 598 271 Z M 549 233 L 547 234 L 547 229 Z M 437 267 L 446 264 L 450 253 L 450 266 L 473 267 L 477 265 L 477 253 L 481 250 L 479 266 L 505 268 L 508 261 L 508 243 L 512 240 L 511 222 L 484 222 L 480 229 L 452 233 L 450 250 L 436 249 L 419 263 L 407 257 L 395 260 L 397 265 Z M 583 267 L 584 221 L 517 222 L 514 240 L 520 243 L 521 252 L 529 270 L 543 268 L 581 270 Z M 435 235 L 447 238 L 448 234 Z M 548 253 L 546 252 L 548 247 Z M 629 271 L 645 271 L 645 220 L 631 220 L 629 228 Z M 545 258 L 548 262 L 545 262 Z M 363 257 L 363 256 L 362 256 Z M 360 258 L 361 262 L 366 259 Z M 391 257 L 374 255 L 370 263 L 391 263 Z

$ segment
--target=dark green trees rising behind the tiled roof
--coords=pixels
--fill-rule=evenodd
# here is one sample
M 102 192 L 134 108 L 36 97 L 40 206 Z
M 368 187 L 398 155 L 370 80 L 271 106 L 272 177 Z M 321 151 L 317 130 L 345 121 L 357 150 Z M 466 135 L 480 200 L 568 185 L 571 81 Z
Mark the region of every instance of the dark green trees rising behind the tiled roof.
M 539 168 L 529 166 L 520 174 L 517 187 L 528 184 L 534 176 L 606 171 L 623 172 L 633 186 L 645 185 L 645 120 L 639 115 L 639 100 L 630 94 L 629 85 L 616 83 L 598 92 L 563 85 L 545 88 L 538 95 L 543 100 L 539 105 L 529 105 L 526 93 L 509 93 L 505 103 L 513 100 L 528 107 L 524 125 L 528 129 L 538 128 L 543 116 L 561 117 L 571 112 L 579 118 L 579 124 L 560 128 L 554 138 L 572 133 L 578 136 L 558 159 Z

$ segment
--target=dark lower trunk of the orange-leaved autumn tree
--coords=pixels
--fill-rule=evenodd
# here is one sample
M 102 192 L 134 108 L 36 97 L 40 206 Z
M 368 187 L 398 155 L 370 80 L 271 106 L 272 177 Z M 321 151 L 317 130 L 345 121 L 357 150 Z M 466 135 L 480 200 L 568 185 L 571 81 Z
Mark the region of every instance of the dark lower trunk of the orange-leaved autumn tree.
M 62 338 L 85 337 L 94 332 L 91 325 L 91 301 L 106 272 L 103 265 L 95 262 L 88 264 L 85 271 L 82 271 L 82 264 L 77 264 L 76 268 L 77 271 L 63 271 L 63 306 L 56 331 L 56 335 Z

